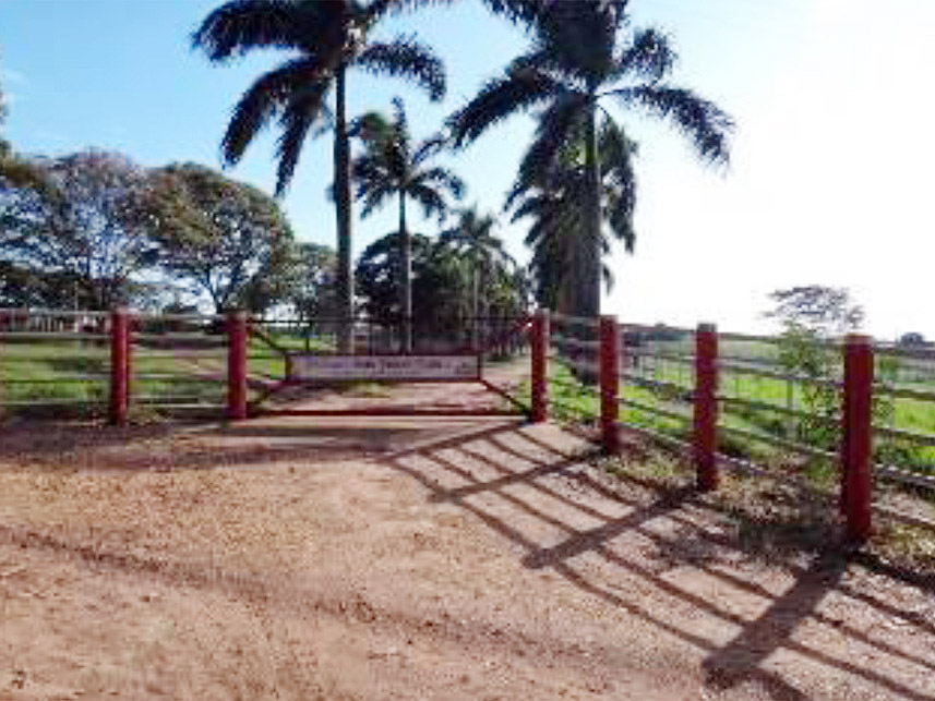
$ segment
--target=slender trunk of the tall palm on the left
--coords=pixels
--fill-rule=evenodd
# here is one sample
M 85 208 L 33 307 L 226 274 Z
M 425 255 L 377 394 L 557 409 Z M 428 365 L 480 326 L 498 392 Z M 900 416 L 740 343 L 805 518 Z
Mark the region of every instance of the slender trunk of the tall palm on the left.
M 350 238 L 350 143 L 347 136 L 345 67 L 335 75 L 335 216 L 337 219 L 338 351 L 353 352 L 353 259 Z

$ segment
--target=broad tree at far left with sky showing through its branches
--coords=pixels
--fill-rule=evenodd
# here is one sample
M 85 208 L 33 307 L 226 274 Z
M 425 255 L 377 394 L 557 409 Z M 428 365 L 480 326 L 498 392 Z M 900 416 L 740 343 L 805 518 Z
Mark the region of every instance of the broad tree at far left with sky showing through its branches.
M 145 172 L 103 152 L 12 160 L 14 176 L 0 172 L 0 261 L 53 288 L 69 281 L 85 309 L 130 302 L 149 265 Z

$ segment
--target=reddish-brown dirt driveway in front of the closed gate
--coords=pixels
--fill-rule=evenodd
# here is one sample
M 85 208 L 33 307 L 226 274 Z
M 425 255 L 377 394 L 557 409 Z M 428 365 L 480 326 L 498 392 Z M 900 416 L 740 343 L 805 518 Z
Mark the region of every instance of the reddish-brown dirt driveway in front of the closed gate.
M 479 418 L 4 430 L 0 699 L 935 699 L 931 589 L 764 563 L 585 448 Z

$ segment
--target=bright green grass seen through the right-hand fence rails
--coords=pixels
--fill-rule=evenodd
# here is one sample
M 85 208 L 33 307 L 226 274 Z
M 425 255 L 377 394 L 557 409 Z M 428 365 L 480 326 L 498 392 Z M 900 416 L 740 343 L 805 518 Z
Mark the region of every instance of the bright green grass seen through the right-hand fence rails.
M 684 361 L 690 359 L 692 348 L 684 342 L 670 341 L 654 345 L 650 350 L 663 358 L 642 356 L 638 362 L 631 359 L 622 368 L 627 376 L 621 383 L 619 392 L 624 399 L 621 420 L 687 439 L 691 433 L 694 372 L 691 362 Z M 741 368 L 758 367 L 774 373 L 783 372 L 778 364 L 777 349 L 770 343 L 727 341 L 721 345 L 719 352 L 722 359 Z M 679 358 L 682 360 L 678 360 Z M 878 365 L 882 366 L 877 368 L 877 378 L 888 386 L 935 390 L 935 363 L 887 359 Z M 597 415 L 599 399 L 596 388 L 579 383 L 567 365 L 552 361 L 550 379 L 550 396 L 556 418 L 579 420 Z M 764 438 L 757 440 L 748 435 L 723 431 L 720 436 L 723 452 L 758 462 L 789 462 L 792 459 L 791 451 L 777 446 L 777 439 L 804 444 L 831 454 L 837 451 L 839 432 L 835 423 L 837 400 L 834 397 L 828 422 L 804 415 L 811 408 L 806 384 L 794 379 L 722 370 L 719 392 L 724 397 L 770 404 L 765 407 L 747 406 L 740 401 L 720 402 L 722 425 Z M 887 389 L 879 389 L 875 401 L 877 427 L 926 434 L 932 437 L 930 443 L 935 443 L 935 402 L 894 397 Z M 666 413 L 659 414 L 652 409 Z M 826 463 L 834 463 L 834 458 L 794 459 L 803 470 L 815 475 L 832 473 L 832 470 L 826 469 Z M 924 439 L 915 440 L 882 432 L 875 437 L 875 460 L 880 464 L 935 476 L 935 446 L 925 445 Z

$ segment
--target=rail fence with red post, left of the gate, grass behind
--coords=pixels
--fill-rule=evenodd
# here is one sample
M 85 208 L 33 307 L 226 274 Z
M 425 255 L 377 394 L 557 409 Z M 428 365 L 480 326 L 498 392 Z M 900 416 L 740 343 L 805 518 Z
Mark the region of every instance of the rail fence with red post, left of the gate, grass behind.
M 0 310 L 0 410 L 115 422 L 217 412 L 227 346 L 220 316 Z

